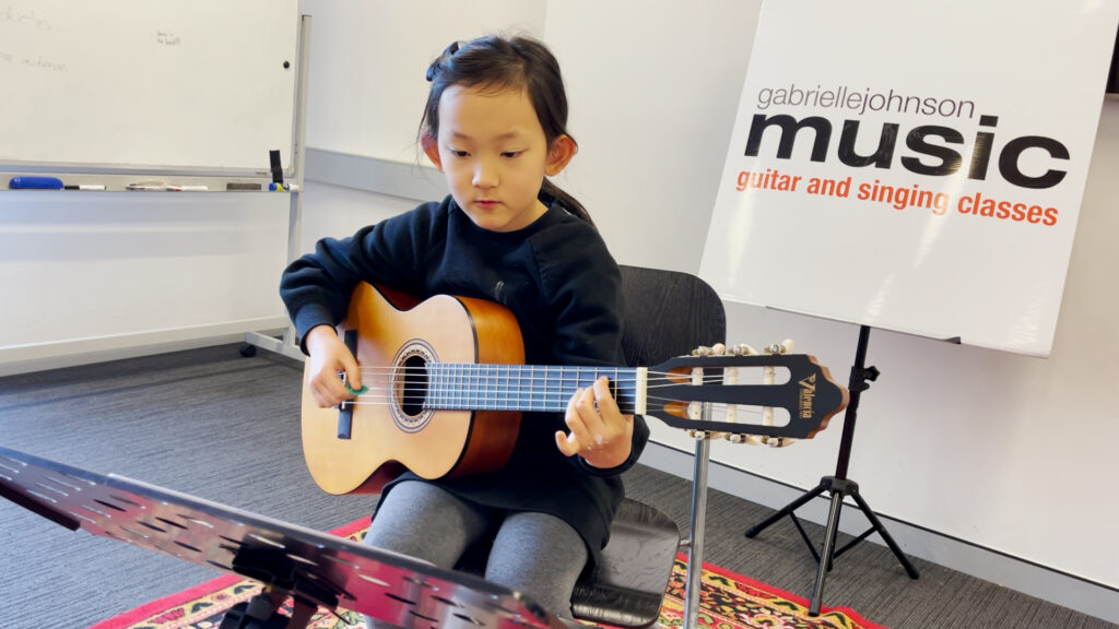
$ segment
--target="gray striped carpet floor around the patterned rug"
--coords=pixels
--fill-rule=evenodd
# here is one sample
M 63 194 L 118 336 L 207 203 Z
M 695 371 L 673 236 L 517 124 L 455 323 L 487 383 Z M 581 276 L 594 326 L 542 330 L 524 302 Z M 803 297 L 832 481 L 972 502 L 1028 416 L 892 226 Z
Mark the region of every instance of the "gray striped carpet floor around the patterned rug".
M 319 531 L 368 515 L 367 496 L 330 496 L 300 447 L 302 365 L 236 345 L 0 378 L 0 444 L 117 473 Z M 656 420 L 652 420 L 656 421 Z M 688 535 L 690 482 L 638 466 L 629 495 Z M 746 539 L 771 509 L 712 490 L 705 560 L 808 597 L 816 562 L 788 518 Z M 822 529 L 806 523 L 814 539 Z M 840 545 L 846 542 L 840 536 Z M 891 629 L 1115 628 L 1113 623 L 920 560 L 910 580 L 890 551 L 836 560 L 825 605 Z M 70 532 L 0 499 L 0 629 L 82 628 L 219 575 L 137 546 Z

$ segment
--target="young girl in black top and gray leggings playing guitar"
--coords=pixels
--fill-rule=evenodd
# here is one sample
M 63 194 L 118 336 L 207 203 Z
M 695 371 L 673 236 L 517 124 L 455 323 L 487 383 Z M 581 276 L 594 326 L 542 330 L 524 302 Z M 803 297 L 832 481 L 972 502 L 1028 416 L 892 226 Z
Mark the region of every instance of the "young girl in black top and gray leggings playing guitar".
M 359 281 L 513 311 L 530 365 L 623 365 L 621 279 L 586 210 L 546 177 L 576 151 L 560 67 L 533 39 L 452 44 L 427 68 L 420 141 L 446 177 L 441 203 L 325 238 L 284 272 L 281 295 L 310 362 L 312 395 L 332 406 L 361 388 L 335 326 Z M 533 416 L 537 415 L 537 416 Z M 471 478 L 407 472 L 384 489 L 366 543 L 452 569 L 492 538 L 486 579 L 571 617 L 580 573 L 606 543 L 630 468 L 648 439 L 601 378 L 564 415 L 526 413 L 507 466 Z

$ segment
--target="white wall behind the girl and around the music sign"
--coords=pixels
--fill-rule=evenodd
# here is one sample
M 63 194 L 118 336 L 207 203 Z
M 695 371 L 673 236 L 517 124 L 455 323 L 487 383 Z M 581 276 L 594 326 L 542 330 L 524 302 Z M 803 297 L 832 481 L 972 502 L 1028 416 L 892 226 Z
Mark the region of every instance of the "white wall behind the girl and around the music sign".
M 620 262 L 697 272 L 760 4 L 546 3 L 543 36 L 563 66 L 571 130 L 580 142 L 560 184 L 589 207 Z M 314 97 L 345 101 L 347 77 L 357 68 L 323 67 L 317 55 L 338 47 L 346 50 L 340 57 L 348 57 L 363 44 L 357 37 L 323 43 L 320 27 L 347 21 L 345 8 L 317 4 L 312 12 Z M 490 28 L 464 27 L 455 37 L 504 26 L 500 15 L 493 20 L 481 22 Z M 429 44 L 424 63 L 445 45 L 442 34 L 427 37 L 419 22 L 411 28 L 394 22 L 394 29 L 404 34 L 408 49 Z M 393 36 L 374 26 L 361 35 Z M 379 85 L 375 69 L 396 73 L 397 62 L 394 56 L 361 72 Z M 422 73 L 405 75 L 422 92 Z M 349 131 L 316 126 L 314 111 L 310 129 L 317 131 L 309 132 L 309 141 L 321 149 L 414 160 L 414 147 L 398 149 L 414 137 L 422 101 L 408 94 L 416 111 L 403 120 L 366 116 L 354 123 L 366 130 L 383 125 L 378 133 L 395 142 L 389 149 L 355 145 Z M 1119 565 L 1106 550 L 1119 529 L 1119 507 L 1107 498 L 1104 484 L 1117 471 L 1109 450 L 1119 440 L 1119 422 L 1108 393 L 1119 368 L 1102 357 L 1119 350 L 1119 328 L 1110 320 L 1119 288 L 1103 278 L 1119 257 L 1107 243 L 1119 226 L 1110 212 L 1111 199 L 1119 197 L 1111 175 L 1117 166 L 1119 101 L 1112 100 L 1103 110 L 1052 357 L 874 330 L 867 360 L 882 376 L 863 396 L 849 469 L 881 514 L 1111 589 L 1119 588 Z M 347 208 L 346 220 L 316 217 L 316 203 Z M 303 241 L 323 234 L 328 220 L 345 233 L 363 218 L 411 205 L 312 185 Z M 758 347 L 792 338 L 798 350 L 816 355 L 846 384 L 856 326 L 741 304 L 727 304 L 727 314 L 728 340 Z M 716 443 L 713 459 L 807 489 L 834 473 L 841 428 L 837 416 L 815 440 L 781 450 Z M 671 429 L 656 426 L 653 439 L 692 450 Z M 939 556 L 934 546 L 918 541 L 906 550 L 951 565 L 952 557 Z

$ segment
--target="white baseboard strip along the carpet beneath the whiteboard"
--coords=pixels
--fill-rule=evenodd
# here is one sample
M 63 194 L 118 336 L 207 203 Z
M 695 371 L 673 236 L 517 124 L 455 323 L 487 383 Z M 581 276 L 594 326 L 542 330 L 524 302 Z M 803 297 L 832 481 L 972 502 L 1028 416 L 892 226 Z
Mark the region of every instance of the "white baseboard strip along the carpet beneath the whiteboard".
M 0 347 L 0 376 L 237 342 L 245 339 L 246 332 L 270 330 L 279 332 L 286 326 L 285 317 L 265 317 L 207 326 Z

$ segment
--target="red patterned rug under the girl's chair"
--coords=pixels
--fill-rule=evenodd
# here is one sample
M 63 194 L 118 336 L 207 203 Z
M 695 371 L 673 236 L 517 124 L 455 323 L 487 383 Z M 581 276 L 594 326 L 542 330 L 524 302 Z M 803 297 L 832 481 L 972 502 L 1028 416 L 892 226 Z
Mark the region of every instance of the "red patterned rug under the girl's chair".
M 357 520 L 331 533 L 360 539 L 367 524 Z M 687 557 L 678 556 L 660 609 L 661 627 L 684 625 L 686 567 Z M 220 625 L 227 609 L 260 591 L 260 583 L 226 574 L 103 620 L 90 629 L 214 629 Z M 364 627 L 360 616 L 341 609 L 337 616 L 319 610 L 308 625 L 313 629 L 350 626 Z M 825 607 L 819 616 L 810 617 L 806 599 L 706 563 L 699 595 L 699 626 L 707 629 L 885 629 L 847 608 Z

